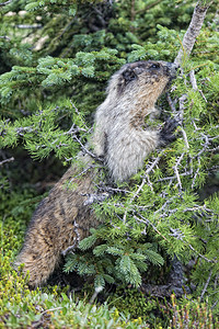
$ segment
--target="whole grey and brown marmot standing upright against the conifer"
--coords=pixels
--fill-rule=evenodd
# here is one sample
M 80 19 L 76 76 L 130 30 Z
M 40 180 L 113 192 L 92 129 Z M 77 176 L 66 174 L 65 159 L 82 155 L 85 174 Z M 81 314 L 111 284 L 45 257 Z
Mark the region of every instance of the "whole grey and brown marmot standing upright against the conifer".
M 151 150 L 173 140 L 174 122 L 161 131 L 143 128 L 143 122 L 146 116 L 157 114 L 154 103 L 175 73 L 175 65 L 149 60 L 126 64 L 111 78 L 107 97 L 96 110 L 90 143 L 115 182 L 128 180 L 142 167 Z M 83 174 L 72 166 L 39 203 L 31 220 L 15 262 L 16 266 L 24 263 L 31 286 L 44 283 L 61 253 L 77 246 L 91 227 L 99 225 L 88 205 L 88 195 L 94 193 L 94 160 L 88 154 L 81 154 L 80 160 Z M 68 186 L 69 181 L 73 182 L 73 189 Z

